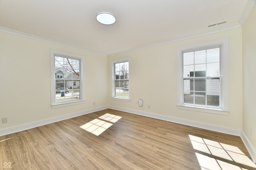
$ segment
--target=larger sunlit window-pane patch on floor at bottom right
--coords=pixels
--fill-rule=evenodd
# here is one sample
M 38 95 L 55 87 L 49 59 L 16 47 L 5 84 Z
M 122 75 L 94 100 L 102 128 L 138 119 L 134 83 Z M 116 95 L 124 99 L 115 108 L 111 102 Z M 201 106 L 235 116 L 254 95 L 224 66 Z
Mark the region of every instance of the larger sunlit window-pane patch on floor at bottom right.
M 246 166 L 250 166 L 252 168 L 256 168 L 256 164 L 254 164 L 252 160 L 250 160 L 238 147 L 227 145 L 224 143 L 219 143 L 216 141 L 211 141 L 193 135 L 189 135 L 189 138 L 193 148 L 195 150 L 206 153 L 206 155 L 211 154 L 229 161 L 237 162 L 240 164 L 244 164 Z M 206 155 L 196 152 L 196 157 L 202 170 L 246 170 L 244 168 L 240 168 L 239 166 L 223 162 L 215 158 L 210 158 L 209 156 Z

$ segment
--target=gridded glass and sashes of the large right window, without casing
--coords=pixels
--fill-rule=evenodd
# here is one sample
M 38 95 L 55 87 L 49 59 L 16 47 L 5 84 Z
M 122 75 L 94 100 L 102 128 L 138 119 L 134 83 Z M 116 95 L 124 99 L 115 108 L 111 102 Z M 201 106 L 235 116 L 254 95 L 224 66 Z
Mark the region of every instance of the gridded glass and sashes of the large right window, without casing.
M 182 52 L 182 104 L 222 108 L 221 46 Z

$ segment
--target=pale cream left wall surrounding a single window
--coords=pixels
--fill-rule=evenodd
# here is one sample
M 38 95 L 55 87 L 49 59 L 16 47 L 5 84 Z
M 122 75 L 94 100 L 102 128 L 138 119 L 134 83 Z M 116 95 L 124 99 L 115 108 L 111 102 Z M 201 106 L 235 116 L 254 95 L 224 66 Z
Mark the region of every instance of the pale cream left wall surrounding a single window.
M 52 109 L 51 49 L 84 56 L 84 104 Z M 108 105 L 105 56 L 0 32 L 0 61 L 0 130 Z

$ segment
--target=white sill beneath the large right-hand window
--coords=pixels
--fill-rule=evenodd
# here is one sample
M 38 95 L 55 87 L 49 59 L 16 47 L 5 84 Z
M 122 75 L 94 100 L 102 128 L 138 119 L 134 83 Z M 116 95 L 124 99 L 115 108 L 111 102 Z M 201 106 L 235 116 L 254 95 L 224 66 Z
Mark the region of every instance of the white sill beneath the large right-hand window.
M 200 111 L 200 112 L 214 113 L 214 114 L 220 114 L 220 115 L 228 115 L 228 112 L 229 112 L 227 110 L 222 110 L 222 109 L 212 109 L 212 108 L 204 108 L 204 107 L 196 107 L 196 106 L 177 105 L 177 107 L 178 109 Z

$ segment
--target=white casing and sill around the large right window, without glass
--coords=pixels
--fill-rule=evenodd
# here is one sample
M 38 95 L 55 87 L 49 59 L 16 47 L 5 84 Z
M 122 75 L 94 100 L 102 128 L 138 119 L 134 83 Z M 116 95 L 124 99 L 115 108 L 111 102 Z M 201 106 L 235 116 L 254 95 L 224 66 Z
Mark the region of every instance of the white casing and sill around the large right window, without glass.
M 221 58 L 220 58 L 220 70 L 222 75 L 220 75 L 221 82 L 221 107 L 218 109 L 210 108 L 210 107 L 199 107 L 199 106 L 191 106 L 182 103 L 182 95 L 183 95 L 183 71 L 182 71 L 182 52 L 184 51 L 197 51 L 202 48 L 207 47 L 215 47 L 221 46 Z M 184 47 L 180 47 L 177 49 L 177 107 L 179 109 L 186 109 L 192 111 L 201 111 L 207 113 L 216 113 L 227 115 L 229 112 L 229 103 L 228 103 L 228 39 L 220 39 L 216 41 L 210 41 L 206 43 L 200 43 L 195 45 L 188 45 Z

